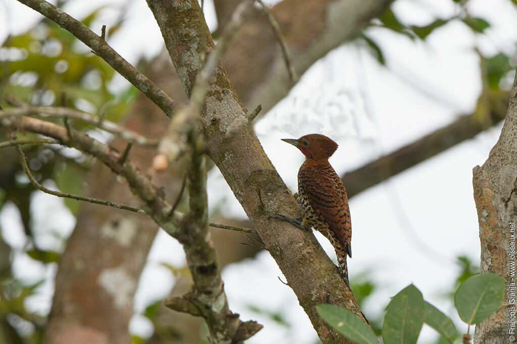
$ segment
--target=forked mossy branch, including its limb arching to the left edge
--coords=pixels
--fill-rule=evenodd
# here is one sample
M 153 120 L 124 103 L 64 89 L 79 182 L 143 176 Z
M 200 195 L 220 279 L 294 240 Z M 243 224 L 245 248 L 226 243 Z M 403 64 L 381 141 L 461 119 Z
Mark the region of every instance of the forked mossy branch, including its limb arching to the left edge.
M 166 232 L 183 244 L 187 254 L 189 269 L 194 280 L 192 291 L 185 295 L 184 299 L 200 309 L 201 315 L 206 319 L 215 342 L 221 342 L 221 338 L 232 338 L 234 342 L 240 342 L 262 329 L 262 325 L 254 321 L 240 321 L 238 316 L 235 316 L 229 310 L 227 304 L 214 244 L 207 240 L 209 233 L 206 168 L 199 136 L 193 139 L 193 142 L 190 142 L 194 147 L 189 174 L 190 212 L 189 214 L 181 214 L 172 210 L 172 206 L 160 195 L 158 188 L 150 182 L 149 178 L 140 174 L 130 161 L 121 162 L 123 154 L 115 152 L 109 146 L 98 142 L 88 135 L 74 130 L 67 132 L 66 128 L 57 124 L 25 116 L 6 117 L 0 121 L 0 126 L 54 137 L 61 144 L 94 155 L 115 173 L 126 178 L 132 192 L 144 201 L 145 211 L 114 204 L 113 202 L 47 189 L 32 176 L 23 151 L 19 145 L 16 146 L 23 170 L 29 180 L 39 190 L 58 197 L 74 198 L 148 214 Z M 186 303 L 184 302 L 184 304 Z M 246 331 L 243 332 L 243 329 Z

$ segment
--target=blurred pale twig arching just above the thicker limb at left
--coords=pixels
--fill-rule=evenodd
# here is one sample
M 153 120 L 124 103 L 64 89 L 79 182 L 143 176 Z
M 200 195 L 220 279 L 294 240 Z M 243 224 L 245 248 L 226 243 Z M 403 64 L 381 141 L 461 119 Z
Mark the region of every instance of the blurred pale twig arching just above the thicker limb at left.
M 0 118 L 14 116 L 31 116 L 38 118 L 63 118 L 65 122 L 65 118 L 67 120 L 73 119 L 86 122 L 88 124 L 92 124 L 92 126 L 115 134 L 121 138 L 128 140 L 129 142 L 133 142 L 139 145 L 152 147 L 158 144 L 157 140 L 147 139 L 139 133 L 121 127 L 114 122 L 110 122 L 105 119 L 99 121 L 99 118 L 97 116 L 68 107 L 29 106 L 24 104 L 22 107 L 19 108 L 9 108 L 7 110 L 0 111 Z M 66 123 L 65 127 L 67 129 L 68 134 L 70 135 L 70 127 L 67 126 Z

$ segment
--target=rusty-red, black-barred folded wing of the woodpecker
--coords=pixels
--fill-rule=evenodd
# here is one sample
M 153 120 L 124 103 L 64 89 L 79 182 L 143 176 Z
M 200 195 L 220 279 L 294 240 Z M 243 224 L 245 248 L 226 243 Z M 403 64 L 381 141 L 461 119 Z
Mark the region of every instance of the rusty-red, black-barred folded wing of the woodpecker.
M 348 256 L 352 257 L 352 223 L 341 178 L 330 164 L 300 169 L 298 177 L 309 204 L 336 234 Z

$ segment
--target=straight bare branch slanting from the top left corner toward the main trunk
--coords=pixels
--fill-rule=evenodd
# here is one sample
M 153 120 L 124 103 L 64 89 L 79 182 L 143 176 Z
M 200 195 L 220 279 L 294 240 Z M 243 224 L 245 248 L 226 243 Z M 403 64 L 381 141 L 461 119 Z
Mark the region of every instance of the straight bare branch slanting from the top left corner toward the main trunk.
M 104 37 L 96 35 L 86 25 L 72 18 L 63 10 L 44 0 L 18 0 L 20 3 L 31 7 L 35 11 L 54 21 L 69 33 L 77 37 L 84 44 L 89 46 L 95 54 L 113 67 L 120 75 L 124 76 L 131 84 L 144 93 L 147 98 L 158 105 L 163 112 L 172 117 L 177 103 L 169 97 L 160 87 L 150 81 L 138 69 L 134 68 L 128 61 L 120 56 L 104 40 Z

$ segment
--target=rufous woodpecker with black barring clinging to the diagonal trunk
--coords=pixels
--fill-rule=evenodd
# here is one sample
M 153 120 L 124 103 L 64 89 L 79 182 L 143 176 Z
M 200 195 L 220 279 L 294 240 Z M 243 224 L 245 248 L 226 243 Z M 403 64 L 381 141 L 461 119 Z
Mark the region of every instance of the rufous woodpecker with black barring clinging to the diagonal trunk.
M 312 227 L 320 231 L 334 246 L 341 277 L 350 288 L 346 266 L 346 256 L 352 258 L 350 210 L 345 186 L 328 162 L 338 144 L 320 134 L 309 134 L 298 139 L 284 138 L 282 141 L 298 148 L 306 158 L 298 170 L 298 195 L 303 219 L 300 223 L 283 215 L 272 217 L 299 228 Z

